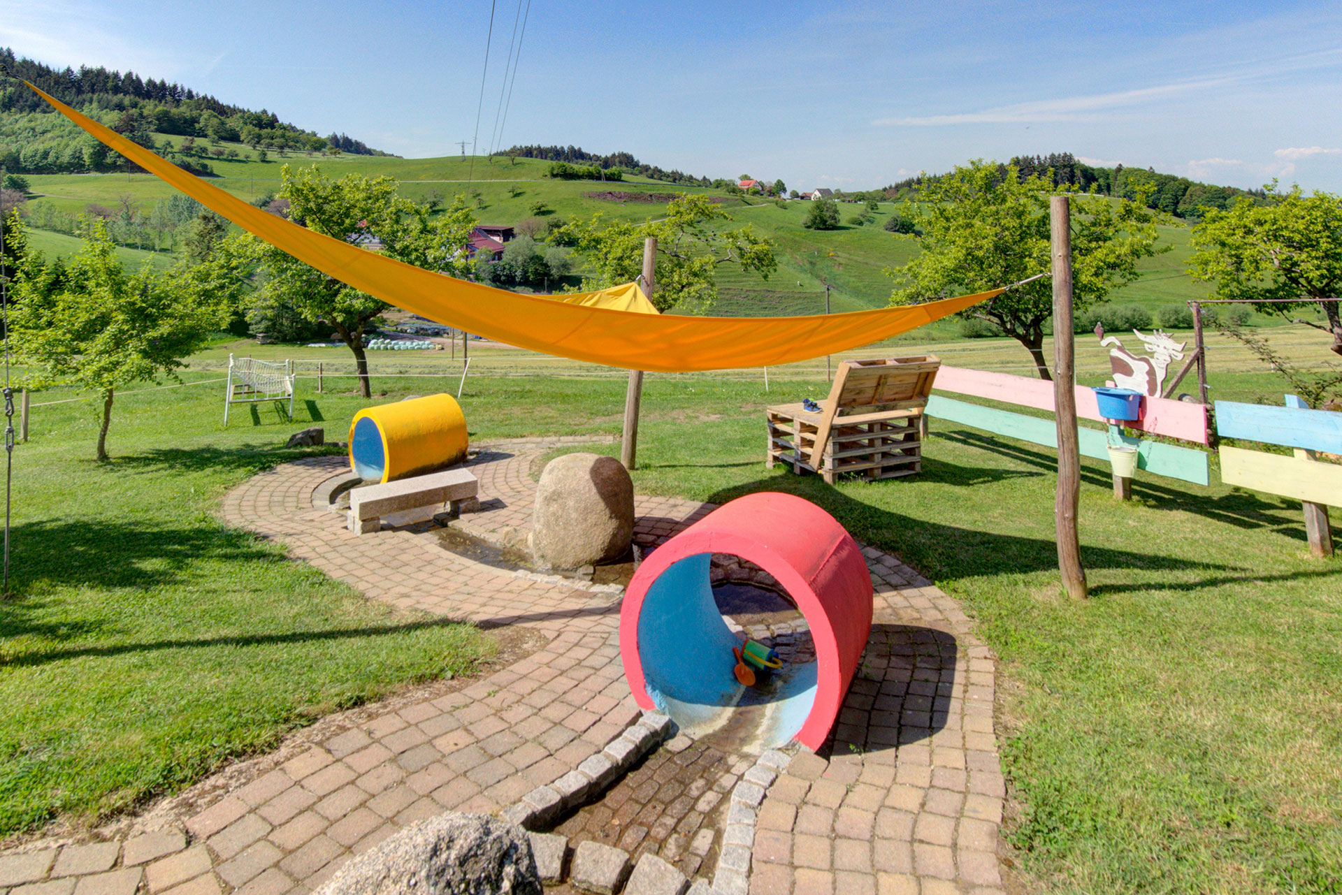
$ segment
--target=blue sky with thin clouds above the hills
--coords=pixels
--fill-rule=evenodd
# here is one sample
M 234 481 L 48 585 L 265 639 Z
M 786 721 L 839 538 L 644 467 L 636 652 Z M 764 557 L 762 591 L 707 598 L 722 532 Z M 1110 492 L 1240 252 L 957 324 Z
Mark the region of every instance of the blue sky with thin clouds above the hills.
M 526 11 L 527 0 L 522 0 Z M 688 173 L 880 187 L 1072 152 L 1212 182 L 1342 192 L 1338 3 L 0 0 L 0 43 L 165 76 L 420 157 L 498 140 Z

